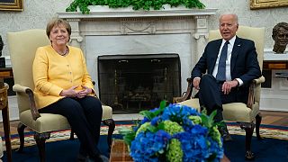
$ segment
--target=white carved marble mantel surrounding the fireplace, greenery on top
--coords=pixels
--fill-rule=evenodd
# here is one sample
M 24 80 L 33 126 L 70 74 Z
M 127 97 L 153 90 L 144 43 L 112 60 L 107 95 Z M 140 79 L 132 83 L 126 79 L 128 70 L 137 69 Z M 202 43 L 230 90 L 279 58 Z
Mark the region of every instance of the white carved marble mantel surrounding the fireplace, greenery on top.
M 133 11 L 95 7 L 90 14 L 58 13 L 59 18 L 71 24 L 70 43 L 85 52 L 93 79 L 97 78 L 97 57 L 103 54 L 178 53 L 181 87 L 185 91 L 186 78 L 207 43 L 208 18 L 217 9 L 166 7 L 159 11 Z

